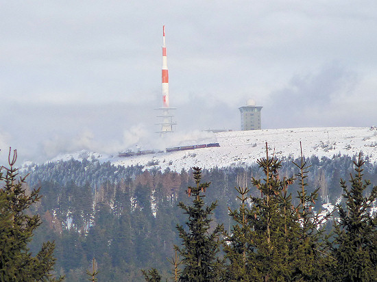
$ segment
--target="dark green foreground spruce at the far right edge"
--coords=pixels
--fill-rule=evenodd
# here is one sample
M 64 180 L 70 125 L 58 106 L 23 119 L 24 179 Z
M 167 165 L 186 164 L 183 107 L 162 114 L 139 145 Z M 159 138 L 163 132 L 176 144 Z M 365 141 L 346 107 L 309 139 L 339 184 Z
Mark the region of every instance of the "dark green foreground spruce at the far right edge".
M 370 214 L 377 198 L 377 186 L 366 196 L 370 182 L 363 180 L 361 154 L 354 161 L 351 188 L 341 179 L 345 207 L 337 205 L 339 221 L 335 222 L 332 256 L 337 259 L 332 281 L 377 281 L 377 217 Z

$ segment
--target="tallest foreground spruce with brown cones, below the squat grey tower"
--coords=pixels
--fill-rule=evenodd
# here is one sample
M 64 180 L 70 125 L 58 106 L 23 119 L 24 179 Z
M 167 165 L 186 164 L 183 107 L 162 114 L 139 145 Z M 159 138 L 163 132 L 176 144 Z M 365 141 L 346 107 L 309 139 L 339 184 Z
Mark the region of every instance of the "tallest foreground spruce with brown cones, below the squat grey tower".
M 254 252 L 250 264 L 256 270 L 256 281 L 291 281 L 297 255 L 296 233 L 300 228 L 297 214 L 292 210 L 291 194 L 287 188 L 293 177 L 280 179 L 281 162 L 270 157 L 266 143 L 266 157 L 257 160 L 265 178 L 252 177 L 252 184 L 260 197 L 251 197 L 253 206 L 248 220 L 252 227 Z

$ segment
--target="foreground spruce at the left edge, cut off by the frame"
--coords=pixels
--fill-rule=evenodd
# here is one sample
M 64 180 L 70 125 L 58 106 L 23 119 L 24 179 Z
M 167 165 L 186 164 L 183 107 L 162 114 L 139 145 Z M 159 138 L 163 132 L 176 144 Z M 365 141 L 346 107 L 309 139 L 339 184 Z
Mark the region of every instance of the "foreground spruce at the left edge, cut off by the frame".
M 56 259 L 55 244 L 47 242 L 35 257 L 27 243 L 40 226 L 38 215 L 30 216 L 27 209 L 40 200 L 39 189 L 30 194 L 25 191 L 25 177 L 17 180 L 17 153 L 9 152 L 9 167 L 1 167 L 0 183 L 0 281 L 57 281 L 52 277 Z M 62 281 L 62 277 L 58 279 Z

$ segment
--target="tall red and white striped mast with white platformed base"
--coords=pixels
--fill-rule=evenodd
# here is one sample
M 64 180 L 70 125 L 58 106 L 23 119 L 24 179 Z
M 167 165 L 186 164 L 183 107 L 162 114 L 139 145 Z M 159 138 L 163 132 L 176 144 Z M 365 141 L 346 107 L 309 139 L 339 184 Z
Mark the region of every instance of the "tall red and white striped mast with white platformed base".
M 165 43 L 165 25 L 162 27 L 162 107 L 156 109 L 160 110 L 161 114 L 158 118 L 161 118 L 161 125 L 159 133 L 173 132 L 173 115 L 171 110 L 175 110 L 174 107 L 169 105 L 169 71 L 167 68 L 167 47 Z

